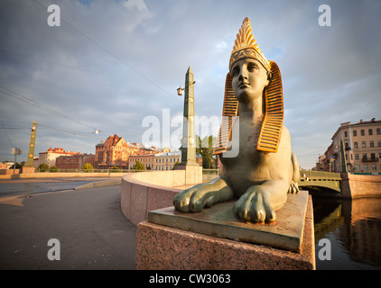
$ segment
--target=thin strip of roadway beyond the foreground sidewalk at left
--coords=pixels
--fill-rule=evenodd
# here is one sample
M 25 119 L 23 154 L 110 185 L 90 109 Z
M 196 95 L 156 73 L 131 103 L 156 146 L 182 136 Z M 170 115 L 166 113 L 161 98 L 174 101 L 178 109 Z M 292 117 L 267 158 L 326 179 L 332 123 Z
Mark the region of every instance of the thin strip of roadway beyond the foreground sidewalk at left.
M 46 178 L 0 180 L 0 197 L 71 190 L 90 182 L 110 180 L 110 177 Z

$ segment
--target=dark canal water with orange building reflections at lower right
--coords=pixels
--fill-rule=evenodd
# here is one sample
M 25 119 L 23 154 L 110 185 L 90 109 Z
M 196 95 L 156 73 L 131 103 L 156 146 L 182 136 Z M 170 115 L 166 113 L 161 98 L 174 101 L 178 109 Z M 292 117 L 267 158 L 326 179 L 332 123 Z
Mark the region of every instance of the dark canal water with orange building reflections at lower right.
M 381 270 L 381 198 L 312 202 L 317 270 Z

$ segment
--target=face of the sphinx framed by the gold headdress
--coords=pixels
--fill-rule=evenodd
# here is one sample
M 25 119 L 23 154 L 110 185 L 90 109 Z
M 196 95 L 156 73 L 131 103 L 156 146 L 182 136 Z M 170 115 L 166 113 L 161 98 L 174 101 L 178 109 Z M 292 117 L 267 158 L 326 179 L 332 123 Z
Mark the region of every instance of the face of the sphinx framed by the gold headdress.
M 265 67 L 255 58 L 242 58 L 231 68 L 232 87 L 238 102 L 250 103 L 262 97 L 269 84 Z

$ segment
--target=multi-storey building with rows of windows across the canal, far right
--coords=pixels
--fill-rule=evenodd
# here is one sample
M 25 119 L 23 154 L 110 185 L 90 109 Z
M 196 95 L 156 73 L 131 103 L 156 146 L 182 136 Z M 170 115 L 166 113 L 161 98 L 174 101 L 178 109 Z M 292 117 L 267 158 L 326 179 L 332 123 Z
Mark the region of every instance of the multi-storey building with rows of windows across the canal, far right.
M 324 171 L 342 171 L 341 140 L 349 173 L 381 173 L 381 120 L 341 123 L 320 164 Z

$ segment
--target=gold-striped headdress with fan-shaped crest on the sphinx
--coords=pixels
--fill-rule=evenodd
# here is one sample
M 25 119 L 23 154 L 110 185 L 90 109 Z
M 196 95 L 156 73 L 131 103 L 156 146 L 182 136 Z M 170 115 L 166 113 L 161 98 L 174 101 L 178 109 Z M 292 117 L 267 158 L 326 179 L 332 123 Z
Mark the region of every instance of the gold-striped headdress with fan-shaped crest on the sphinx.
M 230 56 L 229 70 L 234 63 L 242 58 L 255 58 L 267 70 L 271 72 L 272 79 L 265 87 L 265 118 L 259 134 L 257 150 L 277 152 L 281 140 L 283 127 L 283 87 L 282 76 L 279 67 L 274 61 L 268 61 L 259 49 L 253 37 L 251 23 L 246 17 L 241 29 L 237 33 L 233 51 Z M 222 111 L 222 123 L 218 132 L 218 139 L 213 150 L 214 155 L 228 151 L 228 143 L 231 140 L 233 121 L 237 116 L 238 101 L 231 84 L 232 76 L 228 73 L 225 83 L 224 107 Z

